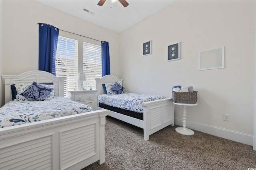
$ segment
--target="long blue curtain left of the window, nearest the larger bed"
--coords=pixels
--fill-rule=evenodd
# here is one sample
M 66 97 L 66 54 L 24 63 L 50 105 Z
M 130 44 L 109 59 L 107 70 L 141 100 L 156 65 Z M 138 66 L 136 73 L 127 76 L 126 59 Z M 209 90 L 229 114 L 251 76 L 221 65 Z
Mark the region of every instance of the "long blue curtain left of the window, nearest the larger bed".
M 46 23 L 39 24 L 39 69 L 56 75 L 55 55 L 59 29 Z

